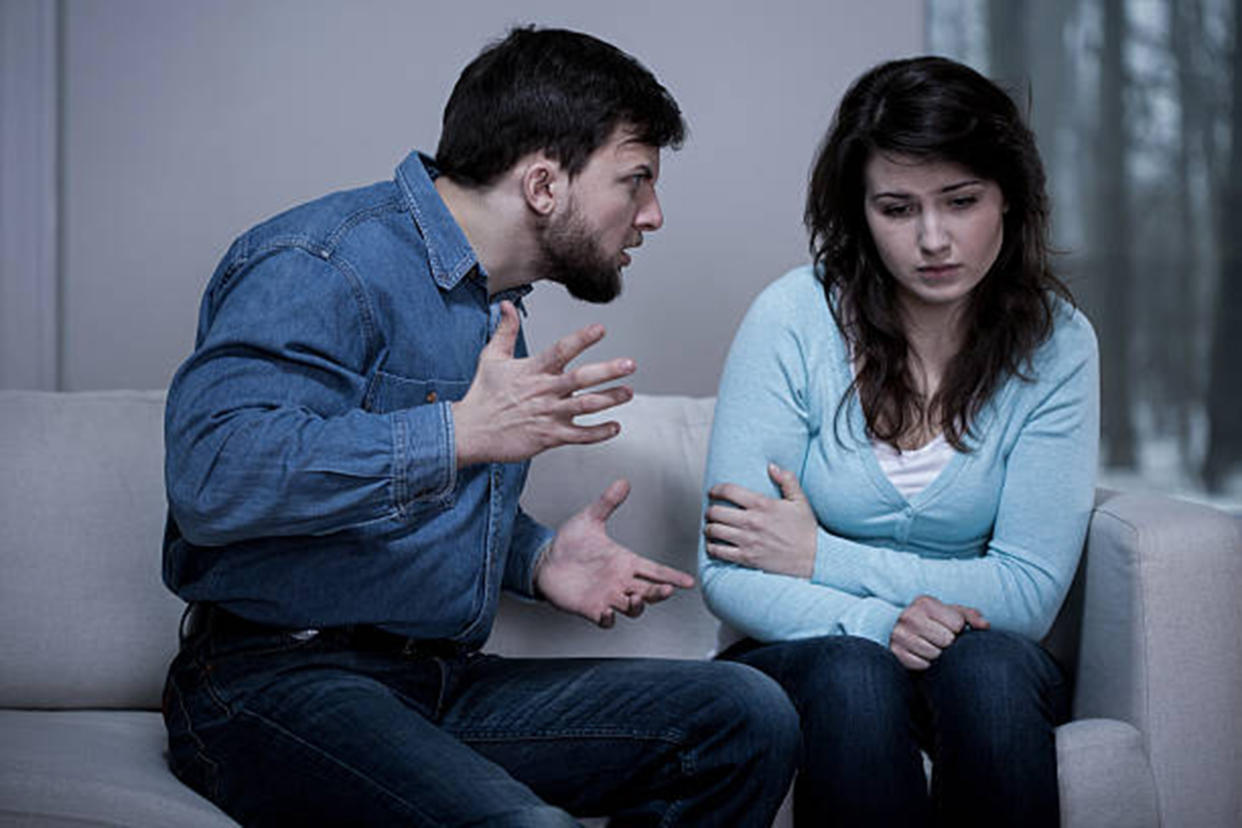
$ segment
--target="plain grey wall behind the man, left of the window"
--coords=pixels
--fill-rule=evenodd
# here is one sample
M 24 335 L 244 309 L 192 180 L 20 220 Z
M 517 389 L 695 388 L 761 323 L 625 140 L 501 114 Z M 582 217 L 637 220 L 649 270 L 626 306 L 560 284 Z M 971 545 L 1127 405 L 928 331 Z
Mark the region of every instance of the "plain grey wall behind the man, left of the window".
M 10 0 L 5 0 L 6 2 Z M 645 392 L 714 394 L 754 294 L 806 258 L 811 154 L 850 79 L 919 51 L 920 0 L 595 4 L 62 0 L 61 379 L 159 387 L 200 292 L 253 222 L 433 149 L 461 67 L 514 22 L 631 51 L 681 102 L 664 228 L 600 308 L 540 286 L 538 348 L 587 322 Z

